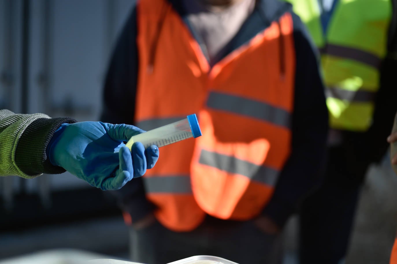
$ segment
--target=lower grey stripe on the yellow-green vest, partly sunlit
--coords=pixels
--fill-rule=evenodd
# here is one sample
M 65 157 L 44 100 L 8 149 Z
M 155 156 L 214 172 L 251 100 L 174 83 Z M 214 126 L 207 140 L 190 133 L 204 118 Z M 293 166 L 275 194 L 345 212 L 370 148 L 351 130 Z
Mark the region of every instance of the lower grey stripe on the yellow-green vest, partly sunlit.
M 330 87 L 326 89 L 326 96 L 337 98 L 340 100 L 347 100 L 349 102 L 373 102 L 376 92 L 364 91 L 349 91 L 338 87 Z

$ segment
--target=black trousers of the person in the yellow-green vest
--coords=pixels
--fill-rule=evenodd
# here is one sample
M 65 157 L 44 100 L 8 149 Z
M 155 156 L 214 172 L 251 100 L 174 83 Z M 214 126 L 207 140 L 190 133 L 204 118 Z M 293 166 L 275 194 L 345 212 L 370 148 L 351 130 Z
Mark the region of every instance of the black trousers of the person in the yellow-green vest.
M 300 264 L 337 264 L 349 246 L 368 162 L 355 160 L 347 145 L 328 149 L 325 179 L 300 212 Z

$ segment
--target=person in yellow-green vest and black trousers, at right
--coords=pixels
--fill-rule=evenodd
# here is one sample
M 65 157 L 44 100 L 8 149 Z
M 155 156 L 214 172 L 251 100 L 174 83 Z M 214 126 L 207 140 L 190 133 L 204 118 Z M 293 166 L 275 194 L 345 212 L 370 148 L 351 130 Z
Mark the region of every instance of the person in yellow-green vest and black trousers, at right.
M 301 210 L 300 263 L 337 264 L 347 252 L 366 170 L 384 156 L 386 120 L 397 110 L 396 1 L 287 1 L 320 50 L 330 114 L 324 184 Z

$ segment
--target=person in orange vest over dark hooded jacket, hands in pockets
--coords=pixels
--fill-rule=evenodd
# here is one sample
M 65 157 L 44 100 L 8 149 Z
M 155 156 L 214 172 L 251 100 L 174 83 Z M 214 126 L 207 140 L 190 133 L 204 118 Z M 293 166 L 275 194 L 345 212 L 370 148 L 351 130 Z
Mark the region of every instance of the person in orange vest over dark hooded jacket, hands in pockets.
M 316 49 L 276 0 L 140 0 L 114 50 L 102 121 L 145 130 L 196 113 L 119 191 L 135 262 L 281 261 L 281 235 L 320 184 L 328 131 Z M 118 103 L 115 103 L 118 102 Z

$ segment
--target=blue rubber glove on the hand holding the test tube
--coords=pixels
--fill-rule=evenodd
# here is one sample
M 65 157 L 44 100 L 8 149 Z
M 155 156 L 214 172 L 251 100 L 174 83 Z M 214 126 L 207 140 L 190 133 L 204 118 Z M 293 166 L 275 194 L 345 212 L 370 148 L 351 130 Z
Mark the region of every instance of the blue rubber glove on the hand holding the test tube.
M 158 160 L 158 147 L 145 150 L 137 142 L 131 151 L 123 141 L 145 132 L 133 125 L 102 122 L 64 123 L 47 147 L 53 165 L 102 190 L 117 190 L 133 177 L 141 177 Z

